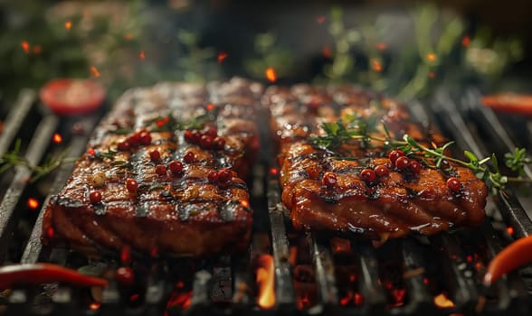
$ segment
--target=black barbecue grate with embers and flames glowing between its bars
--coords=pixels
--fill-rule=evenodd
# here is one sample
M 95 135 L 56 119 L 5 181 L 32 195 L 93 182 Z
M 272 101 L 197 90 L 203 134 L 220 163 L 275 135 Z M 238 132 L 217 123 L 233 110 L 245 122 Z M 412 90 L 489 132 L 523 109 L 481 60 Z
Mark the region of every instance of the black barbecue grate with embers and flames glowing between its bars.
M 513 143 L 499 117 L 478 106 L 478 92 L 470 90 L 461 111 L 448 91 L 436 96 L 430 116 L 462 147 L 487 153 L 475 139 L 486 139 L 499 153 Z M 477 94 L 477 95 L 475 95 Z M 444 105 L 444 106 L 443 106 Z M 428 122 L 426 108 L 413 104 L 413 114 Z M 0 154 L 22 139 L 28 161 L 45 153 L 70 148 L 80 155 L 100 114 L 60 118 L 45 113 L 31 90 L 23 90 L 5 117 Z M 474 117 L 473 126 L 464 117 Z M 500 128 L 497 128 L 499 124 Z M 495 126 L 483 130 L 479 126 Z M 527 126 L 527 125 L 524 125 Z M 471 128 L 470 128 L 471 127 Z M 74 131 L 74 133 L 72 133 Z M 62 142 L 53 135 L 62 135 Z M 57 138 L 57 137 L 55 137 Z M 523 144 L 520 144 L 523 145 Z M 530 145 L 530 144 L 526 144 Z M 271 156 L 264 153 L 261 156 Z M 62 188 L 71 164 L 42 181 L 27 181 L 30 172 L 16 167 L 0 177 L 0 260 L 8 263 L 54 262 L 115 280 L 120 266 L 130 266 L 132 283 L 111 281 L 106 289 L 79 289 L 61 284 L 20 287 L 0 293 L 0 315 L 15 314 L 485 314 L 512 312 L 528 315 L 530 293 L 527 270 L 512 273 L 485 292 L 481 276 L 489 259 L 513 237 L 527 236 L 532 224 L 518 196 L 509 191 L 489 202 L 489 220 L 480 229 L 461 229 L 434 237 L 389 240 L 375 247 L 347 236 L 324 236 L 294 231 L 280 202 L 278 170 L 261 161 L 252 179 L 255 209 L 252 245 L 239 256 L 211 260 L 122 254 L 87 259 L 40 242 L 43 209 Z M 28 199 L 33 199 L 28 204 Z M 511 229 L 507 229 L 511 228 Z M 128 256 L 132 256 L 133 260 Z

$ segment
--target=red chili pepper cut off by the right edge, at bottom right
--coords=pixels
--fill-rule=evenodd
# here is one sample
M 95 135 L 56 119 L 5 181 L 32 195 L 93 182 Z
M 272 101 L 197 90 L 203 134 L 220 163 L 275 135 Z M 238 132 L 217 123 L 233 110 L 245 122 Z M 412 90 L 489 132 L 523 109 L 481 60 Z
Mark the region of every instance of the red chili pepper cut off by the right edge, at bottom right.
M 502 249 L 488 265 L 483 283 L 496 282 L 500 276 L 532 262 L 532 236 L 520 238 Z

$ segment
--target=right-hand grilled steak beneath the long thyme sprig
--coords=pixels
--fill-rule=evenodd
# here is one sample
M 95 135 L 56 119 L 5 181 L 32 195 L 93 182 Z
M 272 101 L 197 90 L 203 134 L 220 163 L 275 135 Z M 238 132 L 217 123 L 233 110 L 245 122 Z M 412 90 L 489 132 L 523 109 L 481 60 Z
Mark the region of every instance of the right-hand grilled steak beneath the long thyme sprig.
M 357 128 L 384 122 L 393 139 L 408 134 L 421 144 L 443 144 L 442 135 L 413 123 L 403 105 L 360 88 L 307 85 L 268 88 L 262 102 L 271 108 L 282 201 L 296 228 L 387 238 L 472 227 L 484 217 L 487 189 L 469 169 L 449 162 L 435 168 L 425 159 L 414 172 L 401 170 L 382 142 L 346 140 L 334 150 L 309 142 L 326 134 L 322 123 L 349 116 L 361 118 Z M 385 137 L 382 125 L 370 127 L 371 135 Z M 386 172 L 361 174 L 377 166 Z M 451 177 L 458 180 L 454 186 L 447 182 Z

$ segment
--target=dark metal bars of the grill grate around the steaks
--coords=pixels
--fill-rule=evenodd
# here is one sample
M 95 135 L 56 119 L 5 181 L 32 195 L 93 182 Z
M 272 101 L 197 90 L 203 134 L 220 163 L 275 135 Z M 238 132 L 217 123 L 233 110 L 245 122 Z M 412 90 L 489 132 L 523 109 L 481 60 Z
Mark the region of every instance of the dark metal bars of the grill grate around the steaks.
M 473 153 L 484 156 L 486 144 L 493 145 L 498 153 L 511 150 L 515 145 L 510 136 L 503 128 L 498 116 L 495 116 L 489 109 L 478 105 L 480 93 L 474 88 L 467 90 L 467 98 L 455 98 L 447 88 L 440 89 L 430 102 L 432 107 L 423 107 L 420 102 L 412 103 L 413 116 L 423 124 L 428 124 L 431 118 L 435 118 L 442 130 L 451 135 L 461 148 L 470 148 Z M 457 106 L 461 103 L 461 107 Z M 88 132 L 85 134 L 72 134 L 68 140 L 70 156 L 79 156 L 86 148 L 90 131 L 99 121 L 101 113 L 74 118 L 60 118 L 49 113 L 39 115 L 40 105 L 36 101 L 36 95 L 32 90 L 21 91 L 12 112 L 5 120 L 5 130 L 0 135 L 0 154 L 5 153 L 9 146 L 14 143 L 14 139 L 19 131 L 24 129 L 24 119 L 28 116 L 40 116 L 39 123 L 34 129 L 30 144 L 25 151 L 26 158 L 31 163 L 39 163 L 50 147 L 52 135 L 57 131 L 71 131 L 75 123 L 82 124 Z M 460 108 L 460 110 L 459 110 Z M 471 123 L 473 128 L 471 128 Z M 489 143 L 480 143 L 480 134 L 476 129 L 479 125 L 493 126 L 487 128 Z M 530 128 L 530 125 L 527 125 Z M 64 134 L 63 133 L 63 134 Z M 272 157 L 271 154 L 264 156 Z M 168 310 L 169 314 L 205 315 L 205 314 L 242 314 L 242 315 L 290 315 L 290 314 L 321 314 L 321 315 L 377 315 L 377 314 L 408 314 L 426 315 L 450 314 L 451 312 L 472 313 L 483 294 L 473 277 L 475 274 L 473 267 L 466 259 L 466 253 L 461 246 L 461 239 L 457 234 L 440 234 L 426 238 L 433 249 L 435 249 L 438 260 L 442 262 L 441 271 L 444 288 L 448 289 L 452 301 L 457 307 L 450 310 L 437 308 L 433 300 L 433 295 L 427 284 L 423 281 L 423 274 L 414 274 L 412 277 L 404 279 L 407 302 L 400 307 L 388 308 L 386 293 L 380 284 L 379 258 L 377 252 L 369 242 L 356 242 L 352 246 L 352 252 L 356 257 L 358 271 L 358 291 L 363 295 L 365 301 L 360 306 L 344 307 L 339 303 L 338 280 L 335 277 L 335 258 L 328 246 L 328 237 L 319 236 L 317 233 L 300 233 L 309 244 L 309 256 L 313 266 L 315 285 L 318 300 L 316 304 L 308 310 L 299 311 L 297 309 L 297 293 L 293 284 L 293 267 L 290 264 L 290 223 L 287 221 L 287 209 L 280 201 L 280 187 L 277 177 L 266 172 L 273 165 L 271 161 L 262 161 L 256 167 L 255 178 L 257 186 L 261 190 L 252 193 L 254 195 L 254 209 L 257 217 L 261 217 L 261 222 L 268 223 L 268 235 L 271 241 L 271 255 L 275 265 L 275 294 L 276 305 L 271 310 L 261 310 L 256 304 L 256 297 L 253 294 L 255 287 L 252 272 L 252 262 L 254 256 L 263 252 L 257 246 L 252 245 L 248 254 L 240 256 L 221 256 L 217 260 L 201 262 L 195 269 L 195 274 L 191 278 L 192 297 L 190 307 L 184 311 L 178 309 Z M 48 196 L 43 201 L 46 205 L 52 194 L 61 190 L 62 185 L 70 176 L 72 164 L 64 164 L 53 174 L 54 180 L 48 192 Z M 527 175 L 532 175 L 527 169 Z M 20 220 L 17 214 L 17 206 L 21 208 L 24 200 L 24 191 L 28 190 L 26 179 L 30 173 L 24 167 L 17 167 L 14 170 L 13 178 L 9 181 L 9 187 L 5 191 L 0 204 L 0 260 L 5 261 L 6 248 L 16 223 Z M 262 183 L 262 184 L 261 184 Z M 515 237 L 525 237 L 532 232 L 532 221 L 527 215 L 527 211 L 520 205 L 518 197 L 513 191 L 508 191 L 508 195 L 499 195 L 497 203 L 489 202 L 487 209 L 498 209 L 504 221 L 515 230 Z M 253 203 L 253 200 L 252 200 Z M 259 215 L 261 214 L 261 215 Z M 64 249 L 50 249 L 41 244 L 41 225 L 43 209 L 40 209 L 38 217 L 33 224 L 33 231 L 20 257 L 21 263 L 35 263 L 39 261 L 54 261 L 62 265 L 69 265 L 69 254 Z M 487 253 L 489 256 L 495 255 L 505 244 L 499 234 L 487 220 L 478 229 L 477 238 L 485 240 Z M 423 268 L 428 259 L 423 256 L 423 249 L 412 237 L 394 241 L 397 251 L 403 258 L 404 271 L 413 271 Z M 432 258 L 433 259 L 433 258 Z M 185 260 L 185 262 L 187 262 Z M 96 311 L 81 308 L 77 302 L 78 289 L 59 287 L 52 294 L 52 308 L 50 305 L 46 309 L 39 311 L 39 307 L 33 309 L 31 302 L 38 293 L 31 288 L 17 288 L 8 297 L 5 309 L 0 310 L 0 315 L 15 314 L 99 314 L 99 315 L 161 315 L 166 310 L 166 301 L 172 291 L 173 284 L 168 282 L 165 273 L 172 270 L 172 266 L 180 266 L 183 260 L 176 262 L 163 260 L 160 274 L 149 274 L 145 286 L 145 301 L 138 308 L 129 308 L 124 305 L 124 291 L 120 290 L 116 283 L 111 283 L 108 289 L 102 293 L 101 306 Z M 160 265 L 160 262 L 150 265 Z M 216 283 L 216 278 L 220 277 L 214 273 L 213 266 L 220 265 L 231 268 L 230 279 L 233 287 L 233 298 L 230 302 L 211 302 L 211 293 Z M 500 280 L 491 290 L 492 294 L 499 298 L 497 302 L 486 304 L 483 312 L 485 314 L 500 314 L 500 312 L 512 312 L 516 315 L 528 315 L 532 309 L 532 296 L 527 290 L 530 286 L 531 274 L 528 269 L 522 270 L 522 274 L 511 273 Z M 237 285 L 243 284 L 250 291 L 239 293 L 236 297 Z

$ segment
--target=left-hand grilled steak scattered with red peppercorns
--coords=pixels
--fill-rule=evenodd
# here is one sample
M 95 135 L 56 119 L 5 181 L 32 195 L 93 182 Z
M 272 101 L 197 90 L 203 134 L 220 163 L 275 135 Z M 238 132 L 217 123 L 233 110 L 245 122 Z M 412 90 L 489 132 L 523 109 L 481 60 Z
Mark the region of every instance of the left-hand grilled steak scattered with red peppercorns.
M 47 206 L 43 242 L 208 256 L 242 251 L 252 228 L 248 176 L 261 86 L 134 88 L 92 135 Z

